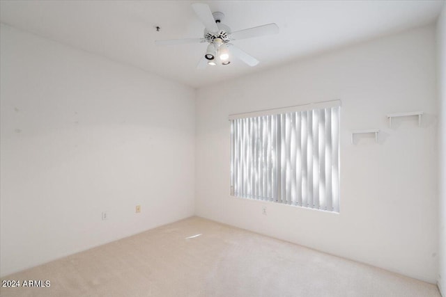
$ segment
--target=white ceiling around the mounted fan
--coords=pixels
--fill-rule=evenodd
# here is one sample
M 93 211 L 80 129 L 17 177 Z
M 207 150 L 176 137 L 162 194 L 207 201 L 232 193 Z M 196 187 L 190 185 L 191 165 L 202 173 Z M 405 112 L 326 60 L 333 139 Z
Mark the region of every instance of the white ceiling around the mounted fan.
M 0 20 L 114 61 L 200 87 L 362 40 L 434 22 L 444 1 L 202 1 L 233 31 L 276 23 L 277 35 L 234 40 L 259 59 L 197 70 L 206 44 L 155 46 L 201 38 L 197 1 L 4 1 Z M 155 31 L 160 26 L 160 32 Z

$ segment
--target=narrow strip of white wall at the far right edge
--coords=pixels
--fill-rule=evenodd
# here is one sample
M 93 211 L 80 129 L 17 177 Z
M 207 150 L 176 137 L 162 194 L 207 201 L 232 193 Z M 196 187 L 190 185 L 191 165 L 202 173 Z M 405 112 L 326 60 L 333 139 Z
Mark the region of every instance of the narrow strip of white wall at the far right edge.
M 438 125 L 438 189 L 439 189 L 439 265 L 438 287 L 443 296 L 446 296 L 446 5 L 437 22 L 438 45 L 438 111 L 440 123 Z

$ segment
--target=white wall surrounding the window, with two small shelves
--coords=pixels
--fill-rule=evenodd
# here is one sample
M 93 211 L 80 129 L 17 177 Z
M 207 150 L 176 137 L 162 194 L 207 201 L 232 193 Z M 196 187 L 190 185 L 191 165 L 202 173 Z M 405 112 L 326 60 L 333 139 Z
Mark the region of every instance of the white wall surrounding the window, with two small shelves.
M 341 99 L 341 212 L 229 196 L 228 115 Z M 386 114 L 424 111 L 388 127 Z M 436 47 L 433 26 L 201 88 L 196 214 L 436 282 Z M 380 143 L 350 142 L 379 128 Z M 267 215 L 261 208 L 267 207 Z

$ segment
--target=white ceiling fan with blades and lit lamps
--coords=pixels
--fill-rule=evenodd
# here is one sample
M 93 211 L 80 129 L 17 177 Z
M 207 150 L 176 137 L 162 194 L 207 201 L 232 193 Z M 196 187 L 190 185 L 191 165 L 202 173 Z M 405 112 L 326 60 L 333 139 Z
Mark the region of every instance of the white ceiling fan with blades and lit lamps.
M 259 37 L 279 33 L 277 24 L 266 24 L 254 28 L 232 32 L 229 26 L 222 24 L 224 14 L 220 12 L 211 13 L 208 4 L 192 3 L 192 8 L 205 26 L 203 38 L 185 38 L 171 40 L 155 40 L 156 45 L 182 45 L 185 43 L 207 42 L 208 48 L 201 58 L 197 68 L 203 69 L 208 65 L 217 63 L 228 65 L 231 57 L 235 56 L 249 66 L 255 66 L 259 61 L 253 56 L 245 53 L 232 43 L 232 40 Z

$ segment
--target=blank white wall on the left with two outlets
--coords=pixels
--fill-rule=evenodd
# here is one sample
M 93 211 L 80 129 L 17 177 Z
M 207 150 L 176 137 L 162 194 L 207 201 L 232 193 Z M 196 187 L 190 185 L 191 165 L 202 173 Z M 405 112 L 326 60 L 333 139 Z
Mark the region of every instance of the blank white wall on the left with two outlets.
M 1 275 L 194 214 L 194 90 L 0 35 Z

